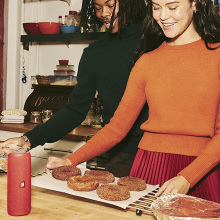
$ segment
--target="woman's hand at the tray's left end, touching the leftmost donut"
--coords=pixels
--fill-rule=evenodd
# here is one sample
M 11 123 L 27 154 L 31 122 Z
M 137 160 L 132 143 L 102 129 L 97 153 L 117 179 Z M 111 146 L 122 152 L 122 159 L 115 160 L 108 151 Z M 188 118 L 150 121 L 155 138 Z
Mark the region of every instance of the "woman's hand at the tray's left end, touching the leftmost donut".
M 53 168 L 66 166 L 66 165 L 72 165 L 70 160 L 67 158 L 49 157 L 47 160 L 45 171 L 48 174 Z

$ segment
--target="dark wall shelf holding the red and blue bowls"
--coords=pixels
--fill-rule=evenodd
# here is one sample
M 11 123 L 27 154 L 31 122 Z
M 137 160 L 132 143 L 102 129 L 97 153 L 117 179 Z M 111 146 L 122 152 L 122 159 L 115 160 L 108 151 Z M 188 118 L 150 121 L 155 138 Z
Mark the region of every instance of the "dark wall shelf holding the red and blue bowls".
M 30 42 L 76 42 L 76 41 L 94 41 L 100 38 L 103 32 L 88 32 L 74 34 L 38 34 L 38 35 L 21 35 L 21 42 L 25 50 L 29 50 Z

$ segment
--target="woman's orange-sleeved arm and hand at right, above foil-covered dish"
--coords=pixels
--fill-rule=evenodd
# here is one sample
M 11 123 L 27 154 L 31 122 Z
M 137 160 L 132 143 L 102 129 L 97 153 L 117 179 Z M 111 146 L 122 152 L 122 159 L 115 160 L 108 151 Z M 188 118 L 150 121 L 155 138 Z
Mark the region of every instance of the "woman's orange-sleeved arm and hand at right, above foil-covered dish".
M 158 190 L 156 196 L 162 193 L 187 194 L 202 177 L 220 162 L 220 103 L 215 124 L 215 135 L 198 157 L 178 175 L 166 181 Z

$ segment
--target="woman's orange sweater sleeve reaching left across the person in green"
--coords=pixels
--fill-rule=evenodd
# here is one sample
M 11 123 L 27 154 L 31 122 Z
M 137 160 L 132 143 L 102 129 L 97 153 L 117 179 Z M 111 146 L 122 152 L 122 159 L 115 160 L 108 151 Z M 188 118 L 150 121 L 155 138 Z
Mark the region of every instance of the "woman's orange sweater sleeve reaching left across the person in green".
M 136 65 L 133 68 L 124 96 L 110 123 L 105 125 L 83 147 L 67 157 L 73 165 L 106 152 L 129 132 L 146 103 L 145 80 L 141 76 L 143 72 L 141 68 L 142 65 Z

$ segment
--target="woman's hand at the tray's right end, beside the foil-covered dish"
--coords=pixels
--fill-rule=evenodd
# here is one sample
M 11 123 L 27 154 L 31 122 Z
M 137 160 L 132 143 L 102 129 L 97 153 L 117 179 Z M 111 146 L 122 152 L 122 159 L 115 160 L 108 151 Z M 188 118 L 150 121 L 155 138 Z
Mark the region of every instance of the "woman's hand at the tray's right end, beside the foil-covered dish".
M 190 189 L 190 183 L 183 176 L 176 176 L 166 181 L 156 193 L 160 196 L 162 193 L 181 193 L 187 194 Z

